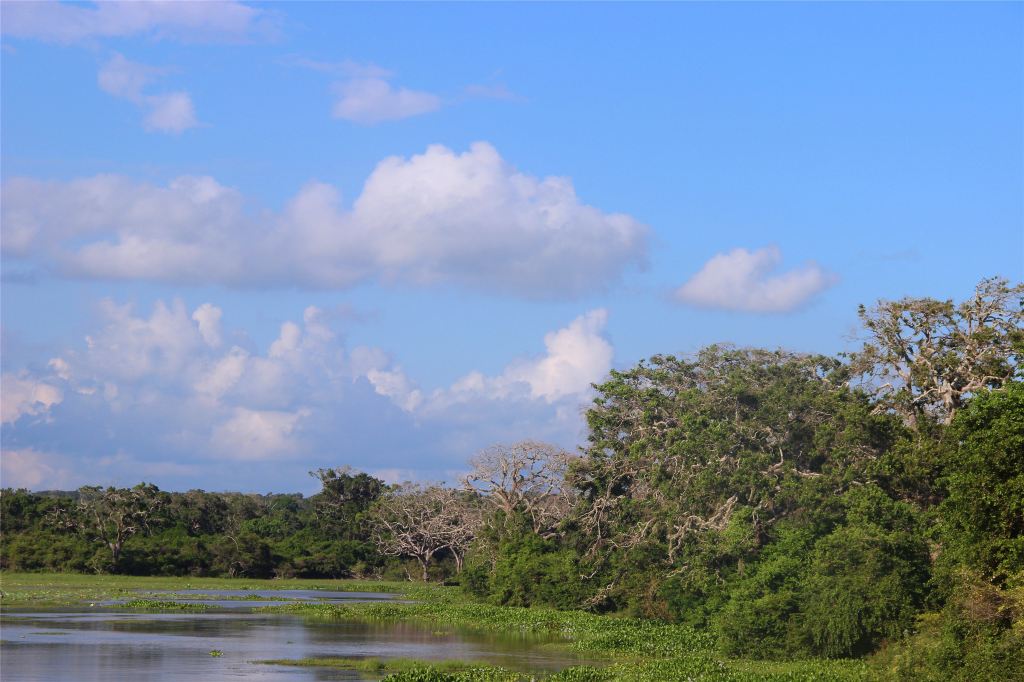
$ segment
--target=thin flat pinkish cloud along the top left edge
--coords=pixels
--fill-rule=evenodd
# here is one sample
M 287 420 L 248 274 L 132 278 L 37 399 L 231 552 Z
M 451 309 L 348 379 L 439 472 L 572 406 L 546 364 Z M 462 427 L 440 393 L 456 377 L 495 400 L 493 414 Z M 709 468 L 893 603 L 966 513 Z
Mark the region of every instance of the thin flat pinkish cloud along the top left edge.
M 3 35 L 54 43 L 147 35 L 183 41 L 238 41 L 272 30 L 267 12 L 231 0 L 104 1 L 92 5 L 4 2 Z

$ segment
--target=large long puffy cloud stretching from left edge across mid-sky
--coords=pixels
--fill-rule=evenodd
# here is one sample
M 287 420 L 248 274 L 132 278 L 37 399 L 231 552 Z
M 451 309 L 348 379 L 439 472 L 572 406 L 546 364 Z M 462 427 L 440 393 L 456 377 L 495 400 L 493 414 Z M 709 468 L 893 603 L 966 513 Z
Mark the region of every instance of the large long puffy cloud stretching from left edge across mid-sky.
M 601 290 L 646 255 L 637 220 L 584 204 L 568 178 L 519 172 L 484 142 L 385 159 L 347 209 L 318 182 L 276 214 L 245 206 L 210 177 L 12 178 L 3 248 L 71 276 L 328 289 L 377 280 L 532 298 Z

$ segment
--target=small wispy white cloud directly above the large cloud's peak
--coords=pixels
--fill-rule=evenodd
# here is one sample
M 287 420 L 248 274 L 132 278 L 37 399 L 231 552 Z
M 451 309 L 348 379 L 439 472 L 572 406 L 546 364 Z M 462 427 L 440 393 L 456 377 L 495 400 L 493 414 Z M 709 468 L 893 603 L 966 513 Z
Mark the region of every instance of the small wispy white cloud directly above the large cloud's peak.
M 335 85 L 336 119 L 372 125 L 436 112 L 441 99 L 430 92 L 395 88 L 384 78 L 353 78 Z

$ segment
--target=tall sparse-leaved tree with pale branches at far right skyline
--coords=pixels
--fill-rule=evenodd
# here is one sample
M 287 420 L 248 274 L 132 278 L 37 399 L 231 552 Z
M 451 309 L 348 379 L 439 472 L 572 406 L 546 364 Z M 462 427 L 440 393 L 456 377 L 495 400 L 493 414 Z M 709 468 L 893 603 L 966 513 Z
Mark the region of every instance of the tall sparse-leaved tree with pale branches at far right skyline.
M 990 278 L 958 305 L 903 298 L 860 306 L 859 315 L 868 338 L 852 367 L 880 410 L 910 424 L 923 415 L 949 424 L 970 395 L 1020 377 L 1024 284 Z

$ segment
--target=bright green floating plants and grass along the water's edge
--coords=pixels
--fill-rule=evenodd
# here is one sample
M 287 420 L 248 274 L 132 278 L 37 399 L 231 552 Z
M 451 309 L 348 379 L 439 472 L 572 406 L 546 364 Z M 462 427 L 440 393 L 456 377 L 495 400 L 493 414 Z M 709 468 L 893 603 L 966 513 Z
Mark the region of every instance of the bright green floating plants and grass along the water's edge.
M 624 680 L 709 680 L 760 682 L 775 680 L 880 679 L 862 660 L 765 662 L 728 659 L 715 651 L 714 639 L 705 632 L 679 625 L 639 619 L 595 615 L 550 608 L 494 606 L 470 601 L 458 588 L 413 583 L 339 580 L 249 580 L 213 578 L 143 578 L 74 573 L 0 573 L 0 608 L 46 609 L 94 605 L 111 600 L 135 600 L 128 608 L 174 609 L 167 595 L 202 590 L 323 590 L 386 592 L 402 602 L 309 603 L 256 608 L 258 612 L 293 613 L 314 620 L 364 623 L 411 623 L 439 631 L 454 629 L 477 633 L 544 636 L 594 663 L 549 675 L 551 682 Z M 159 595 L 159 601 L 146 599 Z M 121 608 L 126 607 L 122 605 Z M 344 667 L 343 660 L 279 658 L 267 665 Z M 490 666 L 453 666 L 440 663 L 402 662 L 393 682 L 500 681 L 519 682 L 532 676 Z M 384 666 L 381 674 L 394 671 Z

